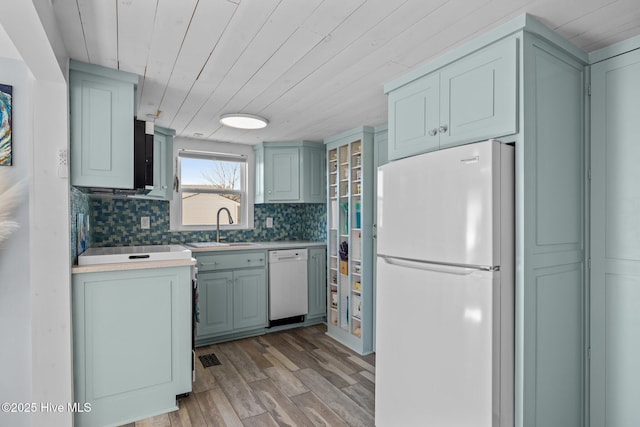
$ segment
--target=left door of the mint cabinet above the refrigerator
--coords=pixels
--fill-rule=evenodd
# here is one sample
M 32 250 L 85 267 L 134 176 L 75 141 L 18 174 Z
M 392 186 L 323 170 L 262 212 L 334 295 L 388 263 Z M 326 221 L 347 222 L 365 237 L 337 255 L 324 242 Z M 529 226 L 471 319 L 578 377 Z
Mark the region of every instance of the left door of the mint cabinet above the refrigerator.
M 434 73 L 389 94 L 390 160 L 438 148 L 439 82 Z

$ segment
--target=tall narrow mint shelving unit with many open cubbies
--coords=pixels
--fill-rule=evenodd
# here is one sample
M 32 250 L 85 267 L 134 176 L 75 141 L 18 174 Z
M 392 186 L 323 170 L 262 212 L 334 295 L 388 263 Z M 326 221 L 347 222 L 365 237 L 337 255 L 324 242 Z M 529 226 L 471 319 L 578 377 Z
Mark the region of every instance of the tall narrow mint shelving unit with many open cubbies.
M 373 351 L 374 129 L 325 140 L 327 147 L 327 334 Z

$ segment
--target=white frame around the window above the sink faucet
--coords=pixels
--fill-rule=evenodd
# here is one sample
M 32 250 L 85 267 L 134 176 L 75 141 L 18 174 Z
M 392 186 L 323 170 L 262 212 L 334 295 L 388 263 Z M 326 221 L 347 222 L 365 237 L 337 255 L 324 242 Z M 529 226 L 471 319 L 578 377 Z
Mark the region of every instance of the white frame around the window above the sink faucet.
M 169 202 L 169 223 L 170 231 L 215 231 L 216 225 L 183 225 L 182 224 L 182 183 L 180 154 L 189 153 L 182 157 L 202 157 L 223 159 L 224 157 L 245 158 L 244 172 L 241 172 L 241 216 L 233 218 L 233 224 L 221 224 L 220 230 L 251 230 L 254 228 L 254 181 L 255 181 L 255 160 L 253 148 L 250 145 L 231 144 L 217 141 L 191 140 L 189 138 L 176 138 L 173 147 L 173 167 L 174 182 L 178 188 L 174 189 L 173 199 Z M 197 153 L 197 154 L 194 154 Z M 187 187 L 188 188 L 188 187 Z M 229 193 L 224 191 L 206 191 L 206 193 Z

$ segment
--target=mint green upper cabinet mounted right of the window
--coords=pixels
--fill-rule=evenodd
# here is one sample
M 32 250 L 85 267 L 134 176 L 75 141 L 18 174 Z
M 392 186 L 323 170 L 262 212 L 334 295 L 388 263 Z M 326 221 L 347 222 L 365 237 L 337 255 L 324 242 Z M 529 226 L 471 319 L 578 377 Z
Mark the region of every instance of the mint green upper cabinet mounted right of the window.
M 263 142 L 254 147 L 255 203 L 323 203 L 322 145 L 307 142 Z

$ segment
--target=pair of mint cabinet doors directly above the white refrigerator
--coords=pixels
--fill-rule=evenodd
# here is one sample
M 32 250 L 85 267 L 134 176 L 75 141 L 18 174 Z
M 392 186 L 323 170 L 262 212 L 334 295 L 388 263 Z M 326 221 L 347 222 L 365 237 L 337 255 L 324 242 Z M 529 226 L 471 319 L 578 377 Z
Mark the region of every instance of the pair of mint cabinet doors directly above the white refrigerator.
M 489 45 L 389 92 L 389 159 L 514 134 L 517 40 Z

